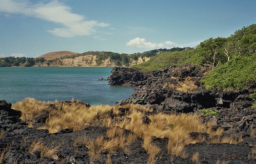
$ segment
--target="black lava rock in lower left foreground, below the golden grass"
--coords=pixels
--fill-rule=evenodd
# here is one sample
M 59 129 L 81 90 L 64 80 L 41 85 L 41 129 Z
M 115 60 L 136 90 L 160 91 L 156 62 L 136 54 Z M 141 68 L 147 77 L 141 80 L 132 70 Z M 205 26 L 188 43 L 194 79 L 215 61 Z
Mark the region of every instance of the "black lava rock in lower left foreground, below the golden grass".
M 88 104 L 83 103 L 83 105 Z M 106 130 L 108 130 L 107 127 L 88 125 L 85 129 L 78 132 L 73 132 L 72 129 L 64 129 L 50 134 L 48 130 L 38 130 L 35 127 L 29 128 L 26 122 L 19 119 L 20 111 L 10 107 L 11 104 L 6 103 L 4 100 L 0 101 L 0 132 L 4 134 L 4 137 L 0 139 L 0 152 L 5 148 L 8 150 L 2 161 L 3 164 L 13 164 L 15 161 L 18 164 L 89 164 L 88 148 L 85 145 L 74 146 L 75 139 L 78 136 L 84 136 L 84 134 L 88 138 L 97 138 L 102 134 L 106 134 Z M 51 107 L 51 109 L 53 108 Z M 128 112 L 128 109 L 120 109 L 120 111 Z M 36 122 L 45 120 L 47 116 L 47 114 L 39 116 L 36 118 Z M 130 133 L 129 130 L 124 131 L 126 135 Z M 32 142 L 40 139 L 46 146 L 58 149 L 56 153 L 58 156 L 57 160 L 49 157 L 41 159 L 40 152 L 38 151 L 28 153 Z M 142 139 L 137 137 L 129 146 L 129 149 L 132 151 L 128 155 L 124 155 L 124 150 L 117 150 L 111 155 L 112 164 L 147 163 L 149 155 L 142 148 L 141 143 Z M 100 159 L 93 161 L 93 163 L 105 163 L 107 158 L 107 154 L 101 154 Z

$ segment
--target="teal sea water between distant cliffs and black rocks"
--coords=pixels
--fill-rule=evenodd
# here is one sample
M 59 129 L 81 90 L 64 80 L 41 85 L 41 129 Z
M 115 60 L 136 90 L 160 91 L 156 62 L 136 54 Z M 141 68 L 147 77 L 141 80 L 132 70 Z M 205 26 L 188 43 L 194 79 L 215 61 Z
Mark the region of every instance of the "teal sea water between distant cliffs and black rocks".
M 16 103 L 26 97 L 40 101 L 80 100 L 114 105 L 132 95 L 134 87 L 108 85 L 111 67 L 0 67 L 0 100 Z

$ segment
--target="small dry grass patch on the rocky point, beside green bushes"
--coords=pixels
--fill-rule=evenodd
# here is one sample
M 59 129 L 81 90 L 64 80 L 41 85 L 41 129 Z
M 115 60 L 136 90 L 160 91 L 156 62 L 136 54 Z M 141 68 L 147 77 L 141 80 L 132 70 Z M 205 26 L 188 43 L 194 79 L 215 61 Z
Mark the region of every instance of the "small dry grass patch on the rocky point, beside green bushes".
M 194 83 L 195 82 L 192 81 L 191 77 L 186 77 L 183 81 L 178 81 L 177 84 L 165 83 L 162 89 L 168 86 L 172 89 L 175 89 L 176 91 L 180 91 L 183 93 L 195 93 L 196 91 L 198 91 L 198 86 L 196 86 Z

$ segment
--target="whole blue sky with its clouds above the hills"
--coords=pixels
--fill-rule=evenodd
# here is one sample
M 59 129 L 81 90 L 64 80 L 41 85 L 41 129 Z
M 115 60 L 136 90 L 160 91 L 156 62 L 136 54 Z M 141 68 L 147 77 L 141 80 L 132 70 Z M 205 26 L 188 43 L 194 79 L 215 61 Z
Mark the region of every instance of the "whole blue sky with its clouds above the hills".
M 195 47 L 256 23 L 256 0 L 0 0 L 0 57 Z

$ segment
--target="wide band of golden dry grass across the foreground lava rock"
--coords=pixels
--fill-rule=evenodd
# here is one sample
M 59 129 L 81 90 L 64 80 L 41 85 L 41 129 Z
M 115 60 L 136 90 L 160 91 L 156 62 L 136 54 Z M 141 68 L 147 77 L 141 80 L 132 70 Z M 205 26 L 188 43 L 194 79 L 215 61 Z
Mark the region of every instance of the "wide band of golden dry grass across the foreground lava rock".
M 40 108 L 37 107 L 37 104 Z M 54 104 L 54 107 L 50 104 Z M 134 132 L 144 140 L 142 146 L 150 154 L 148 163 L 154 163 L 160 151 L 160 148 L 152 143 L 153 136 L 168 138 L 166 151 L 171 154 L 171 156 L 183 156 L 184 147 L 187 144 L 206 140 L 204 136 L 192 138 L 190 136 L 191 132 L 206 132 L 210 134 L 209 143 L 231 142 L 227 141 L 228 138 L 220 138 L 223 129 L 218 128 L 216 131 L 212 130 L 212 126 L 216 124 L 216 122 L 203 123 L 201 116 L 198 114 L 150 114 L 152 113 L 152 109 L 134 104 L 126 104 L 123 106 L 96 105 L 87 107 L 83 103 L 74 100 L 72 100 L 71 103 L 58 101 L 44 103 L 31 98 L 16 103 L 14 107 L 22 111 L 22 119 L 26 121 L 30 121 L 31 118 L 35 118 L 43 112 L 49 113 L 46 123 L 39 128 L 47 129 L 50 133 L 58 132 L 64 128 L 73 128 L 74 131 L 82 130 L 89 124 L 110 127 L 104 136 L 100 136 L 96 139 L 82 136 L 75 140 L 74 145 L 84 144 L 88 148 L 88 154 L 91 160 L 96 160 L 103 152 L 111 154 L 117 149 L 124 150 L 124 148 L 136 139 L 136 136 L 132 133 L 125 136 L 122 128 Z M 30 108 L 26 109 L 26 107 Z M 128 108 L 129 111 L 126 111 L 124 115 L 120 115 L 120 111 L 118 110 L 120 107 Z M 34 117 L 28 117 L 29 113 L 37 114 L 34 115 Z M 110 116 L 110 113 L 112 113 L 112 116 Z M 112 118 L 113 115 L 114 118 Z M 145 124 L 142 121 L 142 117 L 145 115 L 151 120 L 149 124 Z M 232 143 L 234 142 L 232 141 Z M 40 149 L 40 151 L 43 152 L 44 150 Z M 31 150 L 30 152 L 33 151 Z

